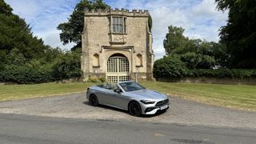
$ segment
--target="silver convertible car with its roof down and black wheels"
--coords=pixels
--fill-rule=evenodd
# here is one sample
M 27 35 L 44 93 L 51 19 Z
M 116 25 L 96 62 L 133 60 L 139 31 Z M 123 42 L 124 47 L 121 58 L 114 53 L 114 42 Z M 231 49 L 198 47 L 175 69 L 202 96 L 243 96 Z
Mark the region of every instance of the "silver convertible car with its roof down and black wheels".
M 128 110 L 134 116 L 156 114 L 169 108 L 169 99 L 165 94 L 148 90 L 134 81 L 90 86 L 86 98 L 92 106 L 113 106 Z

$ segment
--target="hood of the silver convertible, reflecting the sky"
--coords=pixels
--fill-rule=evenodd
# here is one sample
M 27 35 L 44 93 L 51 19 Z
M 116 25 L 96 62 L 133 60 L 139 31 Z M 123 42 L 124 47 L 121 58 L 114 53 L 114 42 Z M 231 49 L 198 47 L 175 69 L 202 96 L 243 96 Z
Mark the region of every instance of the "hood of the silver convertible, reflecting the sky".
M 127 93 L 129 93 L 133 97 L 142 98 L 142 99 L 144 98 L 144 99 L 152 99 L 152 100 L 163 100 L 167 98 L 165 94 L 161 94 L 154 90 L 143 89 L 143 90 L 129 91 Z

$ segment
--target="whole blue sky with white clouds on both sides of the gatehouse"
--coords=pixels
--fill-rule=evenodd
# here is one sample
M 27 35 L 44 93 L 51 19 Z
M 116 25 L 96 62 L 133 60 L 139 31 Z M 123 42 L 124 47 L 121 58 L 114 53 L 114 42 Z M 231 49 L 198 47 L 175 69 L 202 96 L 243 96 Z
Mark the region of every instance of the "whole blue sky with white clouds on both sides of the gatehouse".
M 14 14 L 30 24 L 34 36 L 46 45 L 70 50 L 74 43 L 62 45 L 57 30 L 59 23 L 67 22 L 80 0 L 5 0 Z M 182 26 L 189 38 L 218 42 L 219 28 L 226 25 L 227 12 L 218 11 L 214 0 L 103 0 L 112 8 L 150 10 L 153 18 L 153 50 L 155 59 L 165 55 L 163 40 L 168 26 Z

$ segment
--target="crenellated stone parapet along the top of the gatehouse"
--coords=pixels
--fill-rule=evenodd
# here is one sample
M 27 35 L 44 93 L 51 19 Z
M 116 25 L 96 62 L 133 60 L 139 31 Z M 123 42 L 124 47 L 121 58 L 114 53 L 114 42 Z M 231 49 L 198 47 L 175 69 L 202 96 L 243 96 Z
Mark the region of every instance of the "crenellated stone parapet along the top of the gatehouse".
M 85 10 L 85 16 L 108 16 L 122 15 L 126 17 L 149 17 L 149 10 L 126 10 L 126 9 L 110 9 L 110 10 Z

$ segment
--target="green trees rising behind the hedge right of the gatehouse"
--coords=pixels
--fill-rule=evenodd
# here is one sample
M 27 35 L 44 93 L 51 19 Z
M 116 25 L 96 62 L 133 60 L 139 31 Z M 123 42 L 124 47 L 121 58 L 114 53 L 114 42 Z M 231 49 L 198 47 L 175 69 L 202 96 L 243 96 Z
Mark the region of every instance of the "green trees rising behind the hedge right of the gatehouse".
M 183 35 L 182 27 L 169 26 L 163 41 L 167 55 L 177 54 L 189 69 L 210 69 L 226 66 L 226 47 L 216 42 L 189 39 Z

